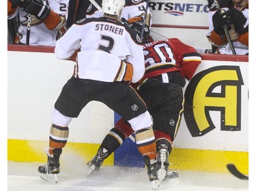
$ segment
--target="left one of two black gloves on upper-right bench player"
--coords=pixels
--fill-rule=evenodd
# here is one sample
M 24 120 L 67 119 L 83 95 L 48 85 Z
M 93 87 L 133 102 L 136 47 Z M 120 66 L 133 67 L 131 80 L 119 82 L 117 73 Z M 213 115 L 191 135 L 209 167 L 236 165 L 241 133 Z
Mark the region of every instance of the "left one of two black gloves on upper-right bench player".
M 214 31 L 218 35 L 224 35 L 225 31 L 223 27 L 227 24 L 227 13 L 225 10 L 217 10 L 212 16 L 212 23 L 214 25 Z

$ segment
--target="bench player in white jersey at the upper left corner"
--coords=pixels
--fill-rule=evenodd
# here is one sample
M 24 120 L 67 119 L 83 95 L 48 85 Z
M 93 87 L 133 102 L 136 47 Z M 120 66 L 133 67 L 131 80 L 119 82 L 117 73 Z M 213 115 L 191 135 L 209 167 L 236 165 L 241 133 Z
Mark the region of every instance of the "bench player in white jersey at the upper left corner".
M 55 46 L 66 33 L 68 0 L 8 0 L 8 19 L 18 16 L 15 44 Z

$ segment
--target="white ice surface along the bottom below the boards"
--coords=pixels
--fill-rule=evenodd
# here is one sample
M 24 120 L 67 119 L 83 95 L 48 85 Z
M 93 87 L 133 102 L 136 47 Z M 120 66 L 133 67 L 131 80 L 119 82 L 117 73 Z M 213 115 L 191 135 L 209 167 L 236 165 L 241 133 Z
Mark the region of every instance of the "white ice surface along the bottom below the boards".
M 58 183 L 40 178 L 38 162 L 8 161 L 8 191 L 139 191 L 153 190 L 147 170 L 130 167 L 101 167 L 87 177 L 83 162 L 70 160 L 61 164 Z M 229 173 L 176 171 L 180 177 L 162 182 L 161 190 L 171 191 L 246 191 L 248 181 Z M 1 188 L 0 188 L 1 190 Z M 250 189 L 251 190 L 251 189 Z

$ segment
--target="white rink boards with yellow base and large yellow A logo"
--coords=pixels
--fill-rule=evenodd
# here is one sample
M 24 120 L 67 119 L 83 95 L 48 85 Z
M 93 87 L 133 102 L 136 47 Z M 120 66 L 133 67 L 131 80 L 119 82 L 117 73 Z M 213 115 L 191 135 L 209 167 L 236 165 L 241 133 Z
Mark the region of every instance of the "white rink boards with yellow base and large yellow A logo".
M 16 46 L 8 51 L 8 160 L 45 162 L 53 105 L 74 64 L 57 60 L 53 48 L 19 47 L 22 52 Z M 248 173 L 248 56 L 202 56 L 195 80 L 186 86 L 187 108 L 170 168 L 225 173 L 232 162 Z M 69 126 L 61 160 L 74 154 L 88 162 L 117 119 L 102 103 L 89 103 Z M 104 165 L 144 164 L 127 139 Z

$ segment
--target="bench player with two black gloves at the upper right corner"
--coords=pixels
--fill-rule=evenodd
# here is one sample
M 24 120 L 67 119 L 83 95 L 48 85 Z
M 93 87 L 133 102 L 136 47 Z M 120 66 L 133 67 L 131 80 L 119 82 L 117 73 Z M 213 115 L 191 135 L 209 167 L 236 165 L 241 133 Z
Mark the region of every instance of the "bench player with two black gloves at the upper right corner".
M 248 54 L 248 0 L 208 0 L 208 7 L 209 31 L 206 36 L 214 46 L 213 52 Z M 225 26 L 231 44 L 223 29 Z

